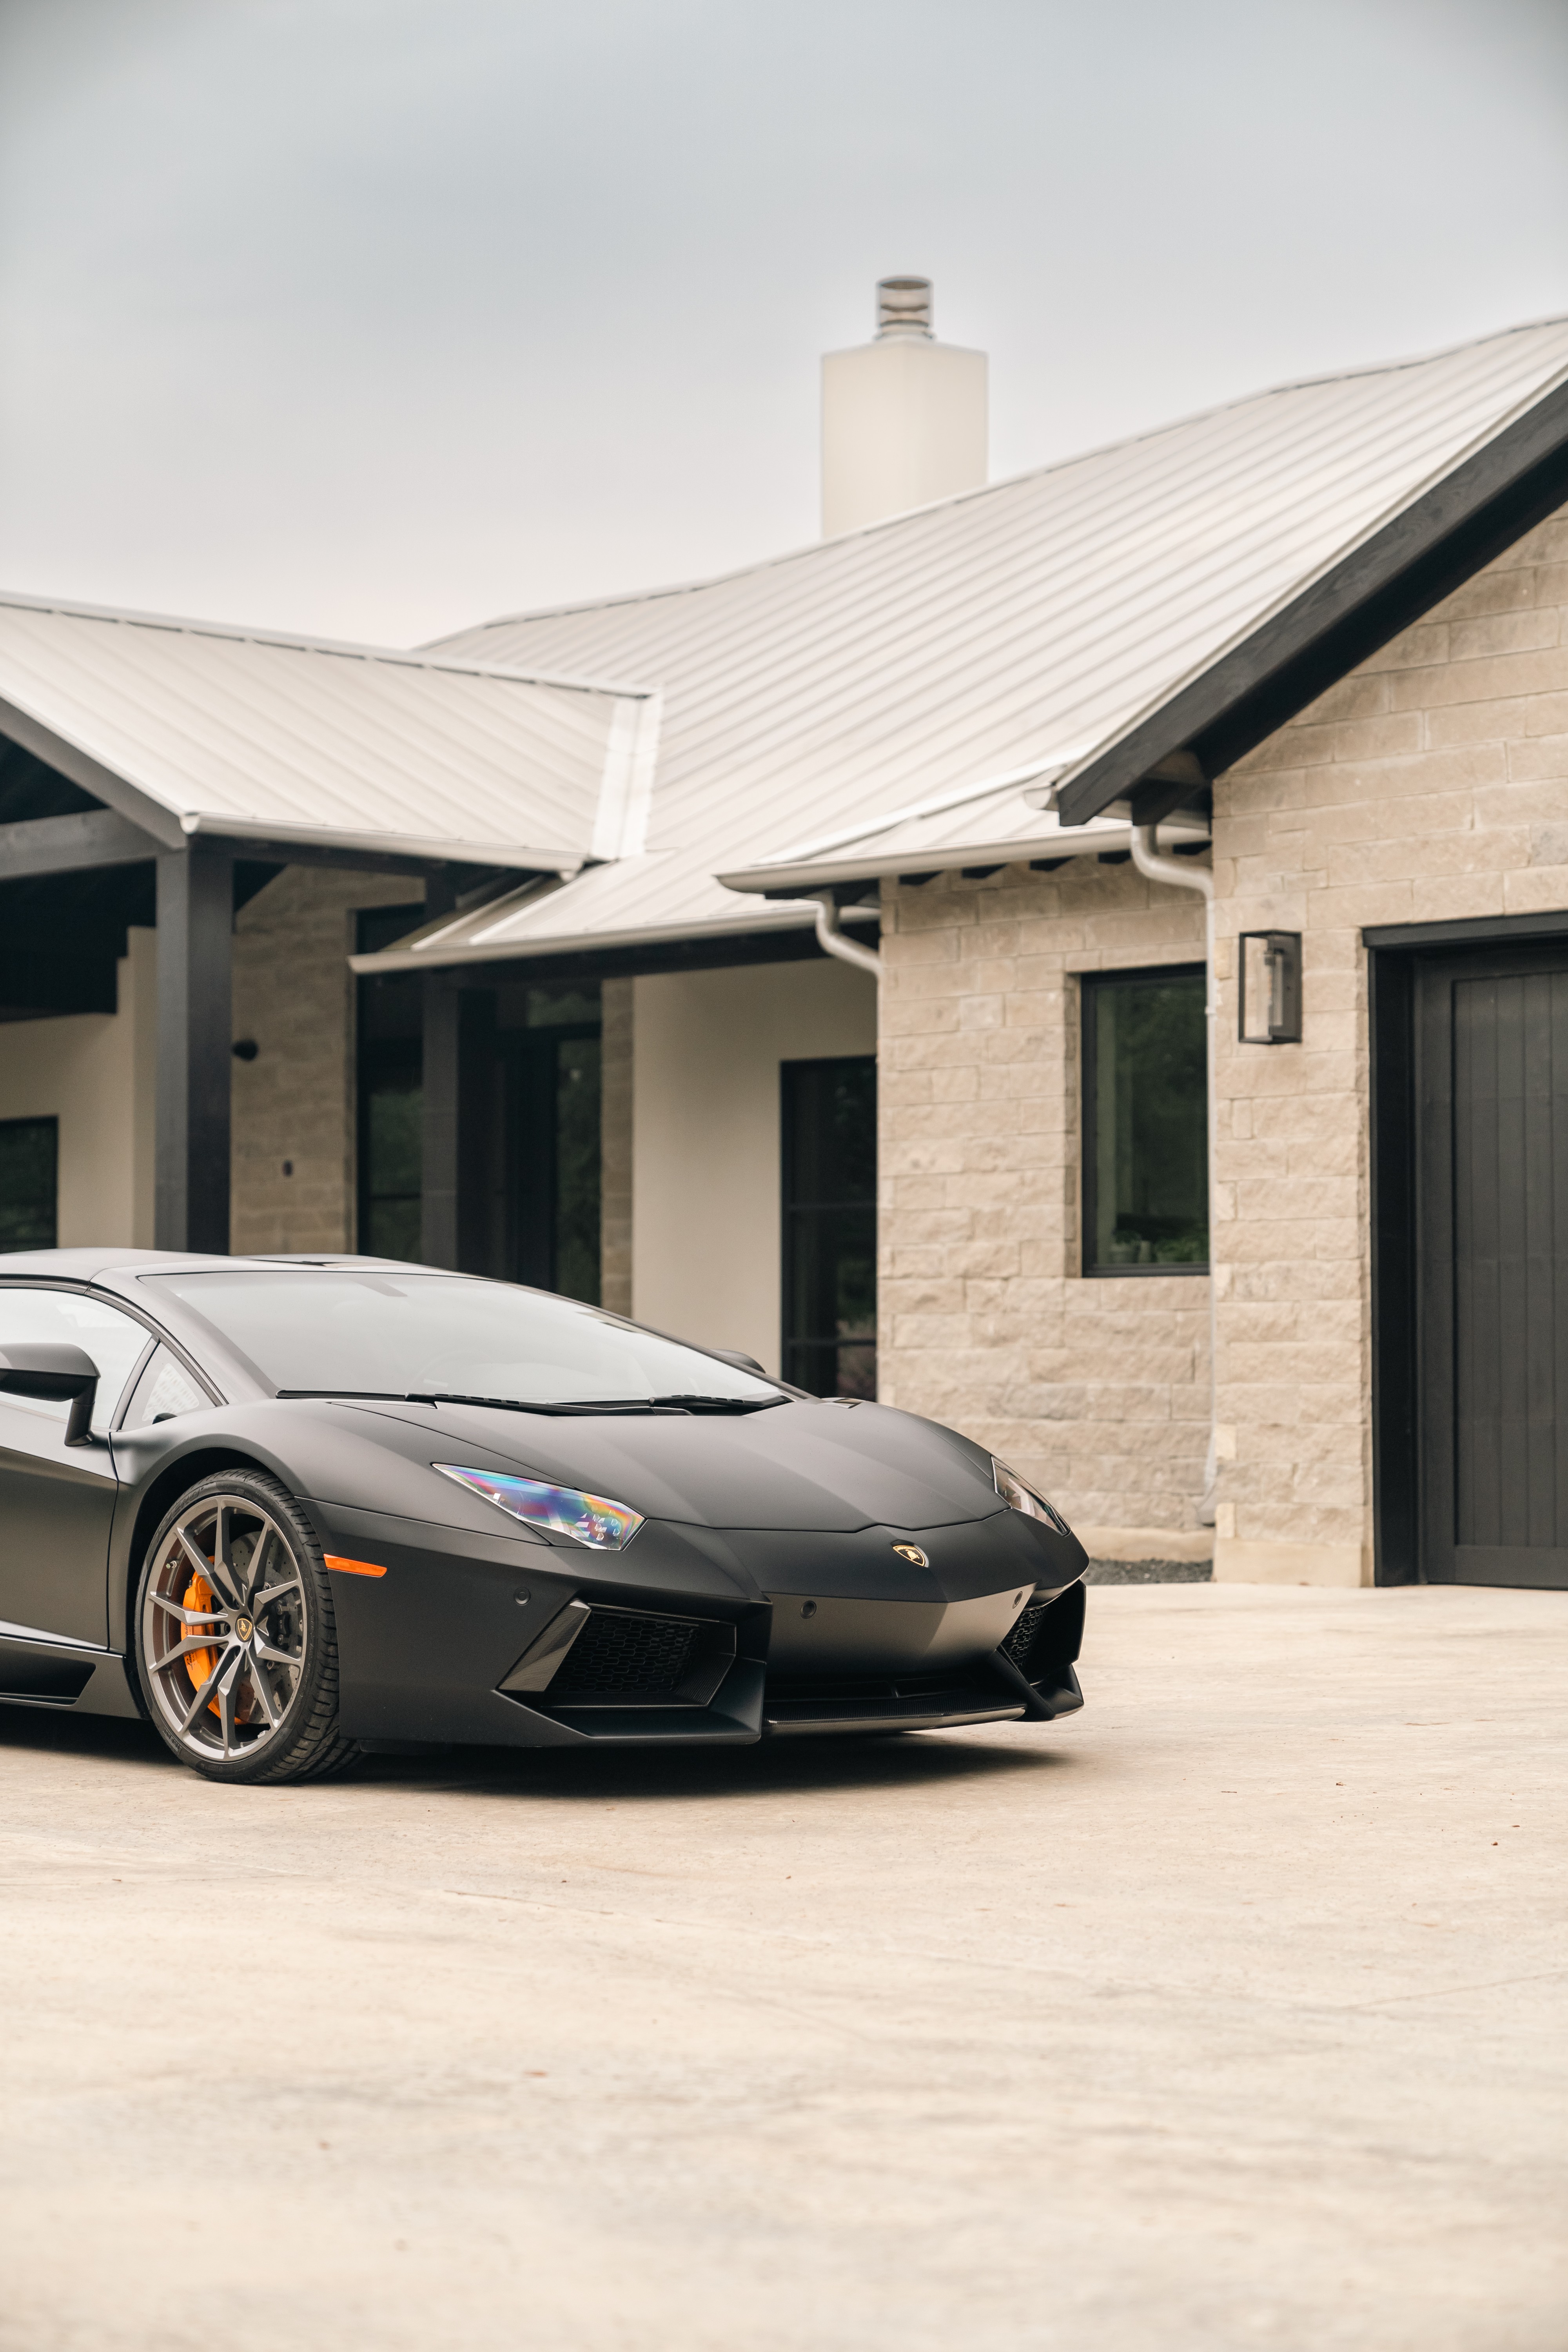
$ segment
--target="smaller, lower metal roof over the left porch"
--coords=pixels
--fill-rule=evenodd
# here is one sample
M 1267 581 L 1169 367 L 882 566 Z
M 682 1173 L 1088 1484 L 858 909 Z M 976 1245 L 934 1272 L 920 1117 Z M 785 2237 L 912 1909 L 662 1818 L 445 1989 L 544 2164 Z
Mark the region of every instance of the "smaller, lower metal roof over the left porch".
M 193 833 L 576 870 L 637 849 L 656 696 L 0 600 L 0 729 L 169 844 Z

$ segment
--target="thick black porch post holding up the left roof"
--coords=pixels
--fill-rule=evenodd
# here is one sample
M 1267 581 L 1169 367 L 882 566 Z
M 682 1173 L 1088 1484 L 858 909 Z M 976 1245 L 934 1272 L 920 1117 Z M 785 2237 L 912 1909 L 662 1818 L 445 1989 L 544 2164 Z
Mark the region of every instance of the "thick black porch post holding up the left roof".
M 233 856 L 158 858 L 158 1249 L 228 1254 Z

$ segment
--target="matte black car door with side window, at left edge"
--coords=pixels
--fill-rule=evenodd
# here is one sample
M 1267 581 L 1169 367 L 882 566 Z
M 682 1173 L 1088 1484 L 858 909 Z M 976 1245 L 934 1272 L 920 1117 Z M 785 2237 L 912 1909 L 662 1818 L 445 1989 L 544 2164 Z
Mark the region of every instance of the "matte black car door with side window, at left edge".
M 134 1315 L 85 1291 L 0 1282 L 0 1348 L 59 1341 L 99 1367 L 92 1439 L 66 1444 L 66 1404 L 0 1395 L 0 1630 L 108 1639 L 108 1526 L 115 1461 L 108 1425 L 153 1345 Z

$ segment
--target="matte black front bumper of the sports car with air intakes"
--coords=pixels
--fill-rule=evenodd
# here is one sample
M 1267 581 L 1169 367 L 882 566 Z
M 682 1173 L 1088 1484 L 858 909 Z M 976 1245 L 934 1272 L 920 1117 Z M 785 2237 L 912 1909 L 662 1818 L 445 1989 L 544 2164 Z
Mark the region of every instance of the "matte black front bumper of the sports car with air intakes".
M 334 1578 L 348 1738 L 750 1745 L 1084 1703 L 1084 1555 L 1016 1512 L 853 1534 L 649 1522 L 635 1550 L 595 1555 L 308 1508 L 329 1555 L 388 1569 Z

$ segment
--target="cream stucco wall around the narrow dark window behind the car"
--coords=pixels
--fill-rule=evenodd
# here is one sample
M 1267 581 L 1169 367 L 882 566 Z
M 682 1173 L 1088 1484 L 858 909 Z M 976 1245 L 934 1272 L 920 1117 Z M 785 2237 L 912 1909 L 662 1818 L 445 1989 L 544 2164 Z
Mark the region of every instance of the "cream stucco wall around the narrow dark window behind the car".
M 875 1054 L 877 983 L 823 960 L 632 985 L 632 1312 L 778 1371 L 778 1065 Z

